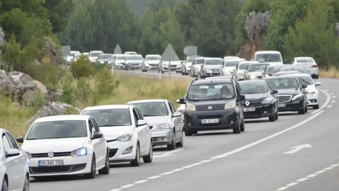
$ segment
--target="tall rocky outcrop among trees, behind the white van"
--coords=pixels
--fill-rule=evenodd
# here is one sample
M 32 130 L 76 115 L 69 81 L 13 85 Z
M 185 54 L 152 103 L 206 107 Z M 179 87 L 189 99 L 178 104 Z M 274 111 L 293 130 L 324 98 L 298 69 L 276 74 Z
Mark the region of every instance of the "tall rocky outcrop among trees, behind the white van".
M 265 13 L 252 12 L 248 14 L 245 22 L 245 31 L 248 40 L 240 48 L 238 56 L 246 60 L 251 60 L 255 51 L 261 50 L 262 37 L 266 35 L 267 22 L 271 18 L 271 11 Z

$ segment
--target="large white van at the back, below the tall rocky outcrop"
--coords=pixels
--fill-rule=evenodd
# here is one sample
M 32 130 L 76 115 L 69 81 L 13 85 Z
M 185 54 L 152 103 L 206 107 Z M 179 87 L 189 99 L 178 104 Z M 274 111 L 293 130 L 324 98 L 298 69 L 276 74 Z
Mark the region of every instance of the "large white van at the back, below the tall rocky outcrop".
M 257 51 L 254 53 L 251 61 L 265 62 L 272 66 L 284 64 L 279 51 Z

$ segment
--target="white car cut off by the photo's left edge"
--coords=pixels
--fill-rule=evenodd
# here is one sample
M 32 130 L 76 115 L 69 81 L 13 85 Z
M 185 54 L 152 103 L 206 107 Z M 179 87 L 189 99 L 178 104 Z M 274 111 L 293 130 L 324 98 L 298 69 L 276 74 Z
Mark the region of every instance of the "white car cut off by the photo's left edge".
M 1 191 L 29 190 L 28 159 L 7 130 L 0 129 Z

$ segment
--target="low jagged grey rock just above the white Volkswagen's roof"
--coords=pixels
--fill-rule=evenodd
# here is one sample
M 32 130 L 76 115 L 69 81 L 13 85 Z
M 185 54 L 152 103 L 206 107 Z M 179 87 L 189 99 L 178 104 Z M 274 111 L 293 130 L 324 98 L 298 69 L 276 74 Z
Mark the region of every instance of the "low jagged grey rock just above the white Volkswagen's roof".
M 29 119 L 26 124 L 31 126 L 32 123 L 40 117 L 64 115 L 69 109 L 73 109 L 79 114 L 81 112 L 79 108 L 73 107 L 66 103 L 60 103 L 58 101 L 48 102 L 31 119 Z

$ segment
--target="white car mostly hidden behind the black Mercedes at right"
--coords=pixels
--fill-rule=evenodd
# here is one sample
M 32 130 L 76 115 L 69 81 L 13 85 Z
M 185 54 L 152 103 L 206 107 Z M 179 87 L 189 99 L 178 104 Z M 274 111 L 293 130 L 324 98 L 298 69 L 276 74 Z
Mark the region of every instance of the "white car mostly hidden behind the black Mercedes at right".
M 319 109 L 319 91 L 316 86 L 321 85 L 321 82 L 314 82 L 309 74 L 284 74 L 283 76 L 296 76 L 301 84 L 307 85 L 307 106 Z

